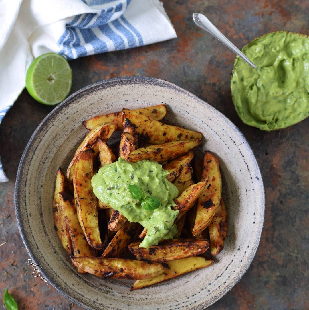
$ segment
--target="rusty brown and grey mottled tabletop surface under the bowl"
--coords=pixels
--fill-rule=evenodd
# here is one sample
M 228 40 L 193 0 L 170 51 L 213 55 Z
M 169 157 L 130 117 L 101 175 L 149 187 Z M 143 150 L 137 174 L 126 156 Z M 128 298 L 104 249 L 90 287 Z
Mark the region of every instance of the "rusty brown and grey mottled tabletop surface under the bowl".
M 244 125 L 230 94 L 235 56 L 196 27 L 191 18 L 195 11 L 204 13 L 241 48 L 270 31 L 308 34 L 309 2 L 163 2 L 177 39 L 73 60 L 71 92 L 101 79 L 153 76 L 184 87 L 229 117 L 249 141 L 260 165 L 266 193 L 265 224 L 259 250 L 246 275 L 209 309 L 309 309 L 309 119 L 269 133 Z M 0 292 L 2 295 L 8 287 L 19 309 L 80 310 L 51 285 L 31 276 L 32 269 L 26 264 L 29 257 L 15 220 L 13 193 L 19 159 L 32 132 L 50 110 L 23 91 L 0 125 L 0 155 L 10 179 L 0 184 Z

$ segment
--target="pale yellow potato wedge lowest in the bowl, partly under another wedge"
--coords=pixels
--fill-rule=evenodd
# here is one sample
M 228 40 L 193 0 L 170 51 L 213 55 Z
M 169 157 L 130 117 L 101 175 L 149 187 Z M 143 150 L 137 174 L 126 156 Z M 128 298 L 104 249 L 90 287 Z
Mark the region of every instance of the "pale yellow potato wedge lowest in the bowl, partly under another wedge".
M 146 286 L 169 280 L 174 277 L 178 277 L 184 273 L 208 267 L 213 263 L 214 261 L 212 259 L 207 260 L 204 257 L 199 256 L 191 256 L 187 258 L 171 260 L 165 263 L 168 268 L 166 268 L 164 272 L 162 272 L 156 277 L 152 277 L 151 279 L 136 280 L 132 284 L 131 290 L 138 290 Z

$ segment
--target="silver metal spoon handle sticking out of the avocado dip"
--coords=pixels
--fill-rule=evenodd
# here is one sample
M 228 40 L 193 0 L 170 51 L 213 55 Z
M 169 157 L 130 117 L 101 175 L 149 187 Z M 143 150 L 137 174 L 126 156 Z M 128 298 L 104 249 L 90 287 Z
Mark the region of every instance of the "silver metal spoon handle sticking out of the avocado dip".
M 234 53 L 239 55 L 239 57 L 241 57 L 244 61 L 247 61 L 248 64 L 250 64 L 253 68 L 256 69 L 255 64 L 253 64 L 245 54 L 239 51 L 238 48 L 228 38 L 226 38 L 205 15 L 201 13 L 194 13 L 192 17 L 195 24 L 197 24 L 200 28 L 206 30 L 213 37 L 218 39 L 221 43 L 230 48 Z

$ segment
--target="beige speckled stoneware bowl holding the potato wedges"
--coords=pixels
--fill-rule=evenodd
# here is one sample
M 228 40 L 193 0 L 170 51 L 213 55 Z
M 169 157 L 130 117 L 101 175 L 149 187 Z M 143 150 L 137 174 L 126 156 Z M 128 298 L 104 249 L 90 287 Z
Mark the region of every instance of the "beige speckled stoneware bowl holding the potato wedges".
M 95 115 L 164 103 L 165 122 L 202 132 L 200 152 L 220 162 L 229 230 L 212 266 L 130 292 L 133 281 L 79 274 L 54 230 L 52 198 L 59 166 L 66 170 Z M 15 187 L 19 231 L 30 257 L 61 293 L 87 309 L 204 309 L 226 294 L 247 271 L 259 246 L 264 188 L 252 150 L 237 127 L 215 108 L 172 83 L 155 78 L 116 78 L 77 91 L 33 133 Z

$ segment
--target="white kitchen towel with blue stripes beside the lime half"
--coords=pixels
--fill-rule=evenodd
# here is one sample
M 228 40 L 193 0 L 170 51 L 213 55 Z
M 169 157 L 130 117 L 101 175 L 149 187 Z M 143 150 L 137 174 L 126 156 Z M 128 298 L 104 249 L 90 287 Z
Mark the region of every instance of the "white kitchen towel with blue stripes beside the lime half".
M 176 37 L 159 0 L 2 0 L 0 12 L 0 122 L 34 57 L 56 52 L 71 60 Z

